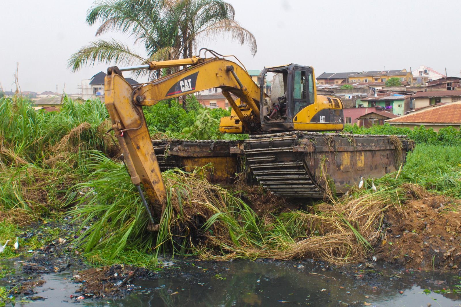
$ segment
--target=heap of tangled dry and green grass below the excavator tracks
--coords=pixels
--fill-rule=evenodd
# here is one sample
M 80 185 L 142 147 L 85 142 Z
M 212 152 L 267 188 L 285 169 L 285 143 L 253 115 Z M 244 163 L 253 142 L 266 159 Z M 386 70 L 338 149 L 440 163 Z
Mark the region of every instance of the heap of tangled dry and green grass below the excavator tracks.
M 278 215 L 273 214 L 276 208 L 286 203 L 272 202 L 265 213 L 257 214 L 198 172 L 177 176 L 165 180 L 171 211 L 165 215 L 159 242 L 167 242 L 169 234 L 169 239 L 191 248 L 201 259 L 311 257 L 334 264 L 361 260 L 377 242 L 383 211 L 391 204 L 387 196 L 372 194 L 323 202 L 312 212 Z M 274 198 L 266 196 L 266 201 Z

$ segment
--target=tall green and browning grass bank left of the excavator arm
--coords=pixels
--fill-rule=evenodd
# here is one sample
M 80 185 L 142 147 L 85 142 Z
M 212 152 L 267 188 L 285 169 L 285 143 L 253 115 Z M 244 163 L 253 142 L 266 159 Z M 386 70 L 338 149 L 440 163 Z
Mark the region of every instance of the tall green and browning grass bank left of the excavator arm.
M 36 218 L 60 209 L 69 187 L 89 171 L 82 163 L 89 150 L 116 150 L 104 134 L 107 117 L 100 100 L 78 102 L 64 96 L 59 112 L 45 112 L 35 111 L 31 101 L 21 97 L 1 98 L 2 215 Z

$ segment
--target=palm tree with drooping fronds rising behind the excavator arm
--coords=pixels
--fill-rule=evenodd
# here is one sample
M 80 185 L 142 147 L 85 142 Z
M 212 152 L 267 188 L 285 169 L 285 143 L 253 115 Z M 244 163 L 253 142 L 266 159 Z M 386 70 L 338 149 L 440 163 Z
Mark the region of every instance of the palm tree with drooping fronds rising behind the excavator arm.
M 96 36 L 108 31 L 129 33 L 144 46 L 140 55 L 115 39 L 92 41 L 71 55 L 68 66 L 78 71 L 85 65 L 115 62 L 118 65 L 191 57 L 199 41 L 229 34 L 251 53 L 257 51 L 254 35 L 234 20 L 234 8 L 222 0 L 101 0 L 86 18 L 89 25 L 102 24 Z M 152 77 L 160 77 L 154 72 Z

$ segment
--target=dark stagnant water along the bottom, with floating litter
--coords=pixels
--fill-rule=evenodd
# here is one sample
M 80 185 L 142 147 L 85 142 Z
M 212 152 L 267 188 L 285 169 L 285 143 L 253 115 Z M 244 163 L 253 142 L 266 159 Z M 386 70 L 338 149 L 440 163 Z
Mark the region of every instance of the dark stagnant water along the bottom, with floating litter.
M 304 267 L 298 267 L 298 266 Z M 176 267 L 176 268 L 174 268 Z M 179 268 L 178 268 L 179 267 Z M 365 271 L 363 271 L 365 270 Z M 175 272 L 168 274 L 168 272 Z M 69 299 L 78 284 L 71 274 L 43 275 L 35 288 L 44 301 L 21 306 L 461 306 L 461 295 L 433 290 L 452 289 L 450 274 L 400 271 L 390 265 L 331 269 L 309 262 L 178 262 L 155 280 L 138 279 L 136 291 L 119 300 Z M 64 279 L 67 278 L 67 279 Z M 431 293 L 423 292 L 431 289 Z M 401 293 L 402 292 L 402 293 Z

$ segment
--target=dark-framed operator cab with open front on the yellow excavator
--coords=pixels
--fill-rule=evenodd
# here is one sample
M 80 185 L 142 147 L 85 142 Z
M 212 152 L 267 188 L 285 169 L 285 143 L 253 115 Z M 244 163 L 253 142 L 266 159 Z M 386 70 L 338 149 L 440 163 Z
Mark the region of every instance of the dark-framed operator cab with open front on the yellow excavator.
M 315 102 L 312 67 L 296 64 L 265 67 L 261 76 L 262 129 L 294 130 L 293 118 Z M 264 98 L 264 94 L 269 97 Z

